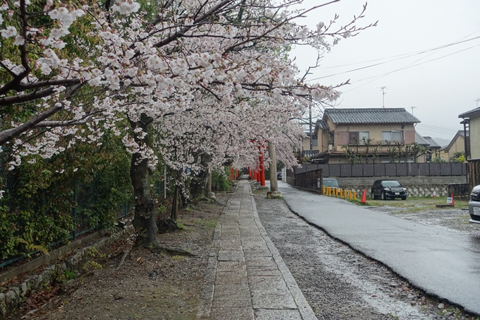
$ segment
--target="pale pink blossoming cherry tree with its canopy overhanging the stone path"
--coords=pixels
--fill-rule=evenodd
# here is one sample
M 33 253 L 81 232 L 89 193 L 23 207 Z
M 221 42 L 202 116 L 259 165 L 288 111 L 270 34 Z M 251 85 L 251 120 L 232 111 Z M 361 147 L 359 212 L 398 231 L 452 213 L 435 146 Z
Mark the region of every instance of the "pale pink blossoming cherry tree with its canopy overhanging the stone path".
M 338 1 L 338 0 L 336 0 Z M 155 247 L 150 172 L 158 159 L 184 172 L 231 160 L 253 166 L 270 141 L 294 165 L 301 129 L 292 122 L 340 85 L 307 85 L 287 52 L 321 50 L 367 27 L 300 25 L 301 0 L 19 0 L 0 6 L 0 146 L 14 158 L 68 150 L 61 136 L 97 144 L 106 130 L 132 155 L 137 243 Z M 365 10 L 365 6 L 364 6 Z M 155 14 L 152 14 L 155 13 Z M 129 126 L 126 126 L 126 123 Z M 85 138 L 82 138 L 85 140 Z M 74 140 L 74 139 L 73 139 Z

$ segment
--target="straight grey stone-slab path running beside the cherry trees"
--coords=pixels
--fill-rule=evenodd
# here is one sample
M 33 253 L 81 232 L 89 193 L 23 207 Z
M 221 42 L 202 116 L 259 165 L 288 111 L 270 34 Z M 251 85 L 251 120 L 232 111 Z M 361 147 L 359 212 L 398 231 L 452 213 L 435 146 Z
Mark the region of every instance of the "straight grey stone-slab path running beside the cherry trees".
M 197 319 L 316 319 L 258 220 L 247 180 L 215 228 Z

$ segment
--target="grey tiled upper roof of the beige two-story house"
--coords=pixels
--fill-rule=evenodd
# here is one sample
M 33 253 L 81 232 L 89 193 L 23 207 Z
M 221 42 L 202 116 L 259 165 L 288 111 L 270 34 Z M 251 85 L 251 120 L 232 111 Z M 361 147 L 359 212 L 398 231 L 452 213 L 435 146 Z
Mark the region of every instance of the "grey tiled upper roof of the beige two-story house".
M 420 122 L 404 108 L 327 108 L 324 117 L 325 115 L 328 115 L 335 124 L 414 124 Z

